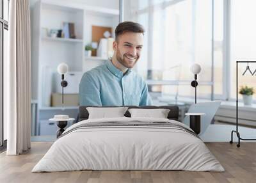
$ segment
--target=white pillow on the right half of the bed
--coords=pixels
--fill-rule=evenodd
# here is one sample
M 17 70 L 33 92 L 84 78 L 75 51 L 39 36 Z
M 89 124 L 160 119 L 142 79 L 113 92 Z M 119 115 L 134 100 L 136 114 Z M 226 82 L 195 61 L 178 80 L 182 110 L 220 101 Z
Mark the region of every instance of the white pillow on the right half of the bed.
M 170 109 L 128 109 L 131 117 L 167 118 Z

